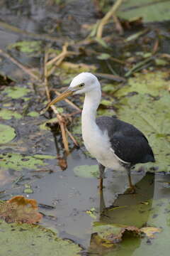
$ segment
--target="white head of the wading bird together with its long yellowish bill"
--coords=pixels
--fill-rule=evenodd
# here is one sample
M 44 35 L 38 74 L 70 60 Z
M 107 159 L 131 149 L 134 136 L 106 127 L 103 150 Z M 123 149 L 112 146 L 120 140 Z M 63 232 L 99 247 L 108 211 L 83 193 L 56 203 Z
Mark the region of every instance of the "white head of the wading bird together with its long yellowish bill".
M 84 72 L 77 75 L 75 78 L 73 78 L 72 82 L 70 83 L 68 89 L 65 92 L 62 92 L 62 94 L 58 97 L 56 97 L 52 102 L 50 102 L 45 110 L 48 109 L 51 105 L 55 104 L 56 102 L 59 102 L 60 100 L 63 100 L 65 97 L 76 95 L 79 93 L 86 93 L 96 90 L 98 92 L 98 99 L 100 100 L 101 97 L 101 85 L 100 82 L 98 82 L 98 79 L 95 75 Z

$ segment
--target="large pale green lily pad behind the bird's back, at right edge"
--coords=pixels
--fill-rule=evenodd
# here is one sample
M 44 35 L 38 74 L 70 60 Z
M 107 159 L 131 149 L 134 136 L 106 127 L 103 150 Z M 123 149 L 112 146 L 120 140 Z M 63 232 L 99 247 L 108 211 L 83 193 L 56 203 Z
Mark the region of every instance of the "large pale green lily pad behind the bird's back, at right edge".
M 140 129 L 152 146 L 156 163 L 145 164 L 148 169 L 155 166 L 159 167 L 157 171 L 170 171 L 169 100 L 168 92 L 164 92 L 159 100 L 147 95 L 134 95 L 120 101 L 118 117 Z

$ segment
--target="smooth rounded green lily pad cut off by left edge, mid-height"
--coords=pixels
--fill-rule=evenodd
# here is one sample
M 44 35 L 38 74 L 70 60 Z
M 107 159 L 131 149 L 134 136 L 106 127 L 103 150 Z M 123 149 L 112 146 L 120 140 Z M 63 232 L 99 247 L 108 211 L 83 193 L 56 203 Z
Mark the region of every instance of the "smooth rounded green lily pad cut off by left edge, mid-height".
M 0 124 L 0 144 L 11 142 L 16 137 L 15 129 L 6 124 Z

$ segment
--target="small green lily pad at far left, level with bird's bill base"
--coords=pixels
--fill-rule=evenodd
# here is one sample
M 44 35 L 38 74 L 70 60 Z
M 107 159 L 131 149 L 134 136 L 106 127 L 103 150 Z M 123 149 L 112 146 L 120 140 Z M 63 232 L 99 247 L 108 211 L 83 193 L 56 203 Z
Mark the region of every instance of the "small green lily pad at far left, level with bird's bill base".
M 27 95 L 30 90 L 25 87 L 6 87 L 3 92 L 7 94 L 8 97 L 11 97 L 12 99 L 19 99 L 23 97 L 24 95 Z

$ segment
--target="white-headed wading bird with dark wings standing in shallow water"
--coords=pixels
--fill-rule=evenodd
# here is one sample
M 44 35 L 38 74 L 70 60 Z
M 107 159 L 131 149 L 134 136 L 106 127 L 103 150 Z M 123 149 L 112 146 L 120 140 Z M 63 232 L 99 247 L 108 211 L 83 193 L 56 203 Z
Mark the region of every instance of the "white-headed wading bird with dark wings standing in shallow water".
M 154 162 L 154 153 L 145 135 L 132 124 L 116 117 L 100 116 L 96 112 L 101 102 L 101 83 L 96 75 L 80 73 L 72 79 L 67 90 L 55 97 L 46 110 L 71 95 L 85 94 L 81 112 L 81 132 L 84 146 L 98 161 L 100 191 L 105 169 L 127 171 L 130 191 L 135 190 L 130 170 L 135 164 Z

